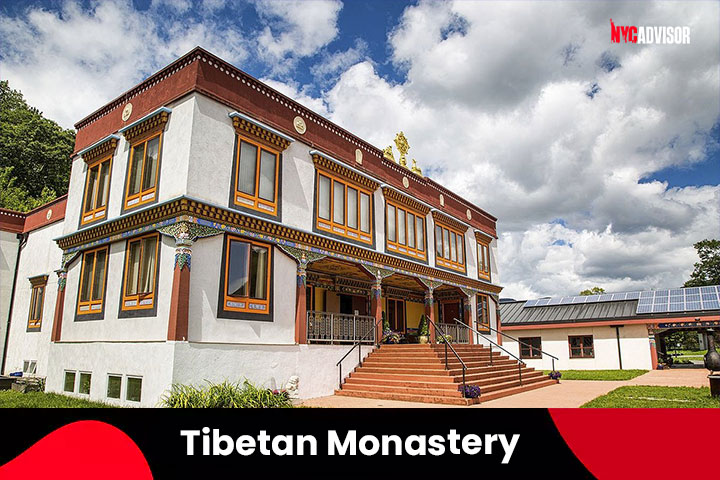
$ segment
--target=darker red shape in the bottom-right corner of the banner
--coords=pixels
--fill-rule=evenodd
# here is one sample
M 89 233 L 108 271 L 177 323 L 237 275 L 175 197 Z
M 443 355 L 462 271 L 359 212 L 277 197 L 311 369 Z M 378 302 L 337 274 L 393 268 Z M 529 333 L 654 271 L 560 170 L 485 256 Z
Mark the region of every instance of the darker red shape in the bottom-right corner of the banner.
M 600 480 L 692 478 L 717 461 L 718 410 L 550 409 L 550 416 Z

